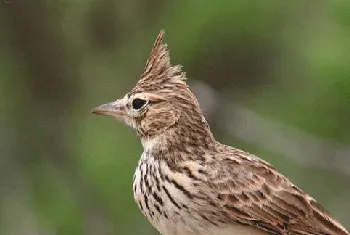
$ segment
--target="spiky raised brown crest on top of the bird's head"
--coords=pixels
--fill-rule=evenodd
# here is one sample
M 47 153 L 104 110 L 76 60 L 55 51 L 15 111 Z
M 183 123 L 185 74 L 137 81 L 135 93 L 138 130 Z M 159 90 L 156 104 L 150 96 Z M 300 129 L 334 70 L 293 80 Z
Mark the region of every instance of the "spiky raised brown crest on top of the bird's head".
M 182 72 L 181 66 L 170 64 L 169 50 L 167 45 L 163 43 L 164 35 L 165 31 L 161 30 L 154 42 L 145 70 L 135 87 L 136 89 L 149 90 L 153 86 L 157 87 L 166 82 L 184 83 L 183 80 L 186 79 L 186 75 Z

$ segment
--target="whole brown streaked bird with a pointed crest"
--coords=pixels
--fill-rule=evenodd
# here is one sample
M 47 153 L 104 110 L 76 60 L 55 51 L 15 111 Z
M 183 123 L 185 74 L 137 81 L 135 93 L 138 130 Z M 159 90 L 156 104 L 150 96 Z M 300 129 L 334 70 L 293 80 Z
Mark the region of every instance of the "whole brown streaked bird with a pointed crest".
M 138 207 L 162 235 L 349 235 L 318 202 L 254 154 L 214 138 L 162 30 L 136 86 L 92 113 L 136 130 Z

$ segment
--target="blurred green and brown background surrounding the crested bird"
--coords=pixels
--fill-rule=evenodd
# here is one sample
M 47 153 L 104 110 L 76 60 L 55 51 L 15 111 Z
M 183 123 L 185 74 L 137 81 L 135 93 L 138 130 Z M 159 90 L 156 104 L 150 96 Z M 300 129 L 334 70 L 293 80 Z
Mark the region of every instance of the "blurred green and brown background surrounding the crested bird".
M 160 31 L 218 140 L 271 162 L 350 228 L 350 1 L 2 0 L 0 234 L 157 234 L 136 134 L 91 115 Z

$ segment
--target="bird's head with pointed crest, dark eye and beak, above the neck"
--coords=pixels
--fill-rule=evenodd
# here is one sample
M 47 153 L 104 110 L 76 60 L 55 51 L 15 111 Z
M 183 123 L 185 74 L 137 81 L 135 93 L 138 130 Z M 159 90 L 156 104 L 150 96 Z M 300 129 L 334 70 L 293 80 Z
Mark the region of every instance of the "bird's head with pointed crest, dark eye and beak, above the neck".
M 100 105 L 92 112 L 121 120 L 136 129 L 142 140 L 161 135 L 191 141 L 205 140 L 208 135 L 212 138 L 198 101 L 185 82 L 185 73 L 181 66 L 170 64 L 163 37 L 161 31 L 136 86 L 122 99 Z

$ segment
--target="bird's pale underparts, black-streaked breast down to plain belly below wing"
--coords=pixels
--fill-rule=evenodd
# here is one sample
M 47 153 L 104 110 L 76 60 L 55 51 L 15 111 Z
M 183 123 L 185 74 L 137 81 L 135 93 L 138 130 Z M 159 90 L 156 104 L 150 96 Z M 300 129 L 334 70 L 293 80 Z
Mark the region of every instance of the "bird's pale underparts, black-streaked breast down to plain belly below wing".
M 220 211 L 201 191 L 201 184 L 158 159 L 142 154 L 133 191 L 142 213 L 162 235 L 262 234 L 221 222 Z

